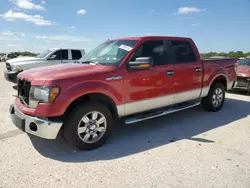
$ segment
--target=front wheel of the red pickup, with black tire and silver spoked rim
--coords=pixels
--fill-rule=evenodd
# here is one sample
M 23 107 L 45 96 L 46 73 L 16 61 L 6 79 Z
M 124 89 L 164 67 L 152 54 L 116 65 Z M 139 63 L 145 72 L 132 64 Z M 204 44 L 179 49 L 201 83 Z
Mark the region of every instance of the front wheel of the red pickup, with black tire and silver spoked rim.
M 94 112 L 98 114 L 93 115 Z M 91 121 L 93 119 L 95 119 L 95 122 Z M 98 122 L 102 121 L 103 123 L 98 125 Z M 91 150 L 106 142 L 112 125 L 113 117 L 107 107 L 100 103 L 87 102 L 69 114 L 67 121 L 64 123 L 63 137 L 74 148 Z M 97 138 L 96 135 L 100 138 Z

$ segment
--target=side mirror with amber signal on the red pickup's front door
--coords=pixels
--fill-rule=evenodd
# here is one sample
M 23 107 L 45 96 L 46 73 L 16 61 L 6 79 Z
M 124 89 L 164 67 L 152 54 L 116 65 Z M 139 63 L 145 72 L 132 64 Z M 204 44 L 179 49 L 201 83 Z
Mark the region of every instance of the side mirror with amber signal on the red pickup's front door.
M 128 63 L 128 70 L 149 70 L 153 66 L 152 57 L 139 57 Z

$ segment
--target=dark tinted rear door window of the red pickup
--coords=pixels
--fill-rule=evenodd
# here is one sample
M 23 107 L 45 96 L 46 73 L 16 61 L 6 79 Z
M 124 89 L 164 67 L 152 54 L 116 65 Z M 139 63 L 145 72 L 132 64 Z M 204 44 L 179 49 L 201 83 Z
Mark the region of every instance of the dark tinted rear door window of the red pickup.
M 195 53 L 188 41 L 171 41 L 177 63 L 195 62 Z

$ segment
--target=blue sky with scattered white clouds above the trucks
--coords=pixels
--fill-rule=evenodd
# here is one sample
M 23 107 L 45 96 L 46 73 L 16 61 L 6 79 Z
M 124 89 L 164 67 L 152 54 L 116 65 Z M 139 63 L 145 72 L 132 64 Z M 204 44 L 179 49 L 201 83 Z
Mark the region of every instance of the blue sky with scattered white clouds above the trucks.
M 200 52 L 250 51 L 250 0 L 0 0 L 0 52 L 87 52 L 107 39 L 190 37 Z

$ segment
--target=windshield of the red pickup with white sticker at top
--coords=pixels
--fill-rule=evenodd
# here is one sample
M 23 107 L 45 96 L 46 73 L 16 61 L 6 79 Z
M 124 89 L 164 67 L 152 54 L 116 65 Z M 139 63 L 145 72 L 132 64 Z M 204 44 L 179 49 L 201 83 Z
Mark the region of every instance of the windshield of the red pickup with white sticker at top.
M 104 42 L 83 56 L 79 62 L 118 66 L 137 42 L 137 40 L 110 40 Z

